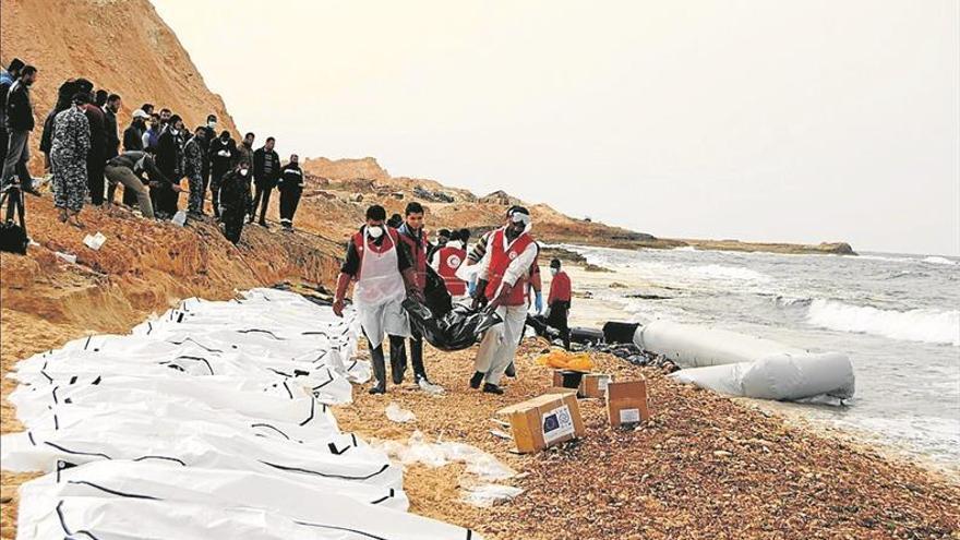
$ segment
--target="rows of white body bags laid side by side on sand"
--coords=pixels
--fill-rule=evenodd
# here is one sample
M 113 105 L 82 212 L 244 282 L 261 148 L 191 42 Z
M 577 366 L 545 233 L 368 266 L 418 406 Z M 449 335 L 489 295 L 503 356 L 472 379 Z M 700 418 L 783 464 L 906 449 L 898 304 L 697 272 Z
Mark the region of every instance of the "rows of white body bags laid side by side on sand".
M 403 470 L 337 427 L 370 377 L 353 314 L 254 289 L 20 362 L 3 435 L 17 539 L 479 538 L 408 514 Z

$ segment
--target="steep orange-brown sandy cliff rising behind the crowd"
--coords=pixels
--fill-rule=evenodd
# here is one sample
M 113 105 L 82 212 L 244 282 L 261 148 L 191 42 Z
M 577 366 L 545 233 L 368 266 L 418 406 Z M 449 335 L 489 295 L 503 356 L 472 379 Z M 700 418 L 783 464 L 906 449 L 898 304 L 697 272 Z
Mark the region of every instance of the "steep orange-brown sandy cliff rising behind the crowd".
M 144 103 L 167 107 L 188 125 L 215 113 L 236 130 L 220 96 L 211 92 L 180 40 L 148 0 L 2 0 L 0 60 L 14 57 L 36 65 L 33 87 L 38 128 L 32 137 L 32 168 L 40 172 L 39 124 L 68 79 L 85 77 L 120 94 L 121 129 Z

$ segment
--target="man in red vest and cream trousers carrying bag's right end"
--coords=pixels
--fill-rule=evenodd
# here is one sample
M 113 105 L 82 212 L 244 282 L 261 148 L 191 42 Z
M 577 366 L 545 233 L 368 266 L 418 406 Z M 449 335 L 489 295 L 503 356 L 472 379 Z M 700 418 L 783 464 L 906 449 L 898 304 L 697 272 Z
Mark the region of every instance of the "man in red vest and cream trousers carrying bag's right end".
M 527 322 L 527 281 L 530 267 L 537 263 L 537 242 L 530 235 L 530 212 L 517 206 L 509 215 L 509 225 L 493 231 L 487 252 L 480 261 L 473 308 L 484 299 L 503 319 L 503 324 L 487 331 L 473 362 L 470 387 L 503 394 L 500 380 L 513 362 Z

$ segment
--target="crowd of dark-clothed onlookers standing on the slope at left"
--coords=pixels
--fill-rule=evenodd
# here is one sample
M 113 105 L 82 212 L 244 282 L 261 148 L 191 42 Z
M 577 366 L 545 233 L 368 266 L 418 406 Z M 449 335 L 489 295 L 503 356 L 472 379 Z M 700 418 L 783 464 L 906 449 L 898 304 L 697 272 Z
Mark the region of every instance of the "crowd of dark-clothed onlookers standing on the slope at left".
M 0 72 L 0 185 L 40 196 L 27 169 L 29 136 L 36 128 L 31 87 L 37 75 L 35 67 L 20 59 Z M 211 214 L 237 243 L 244 224 L 256 220 L 269 227 L 266 216 L 276 189 L 283 230 L 293 230 L 304 175 L 297 154 L 281 163 L 274 137 L 254 149 L 253 133 L 239 143 L 227 130 L 217 133 L 216 115 L 188 131 L 179 115 L 156 110 L 152 104 L 133 110 L 121 132 L 122 108 L 120 95 L 95 91 L 86 79 L 59 86 L 57 103 L 44 117 L 39 148 L 60 221 L 83 228 L 80 214 L 87 204 L 111 211 L 118 185 L 123 188 L 122 204 L 137 208 L 144 218 L 173 219 L 180 214 L 204 219 L 209 193 Z M 187 196 L 185 211 L 180 207 L 181 193 Z

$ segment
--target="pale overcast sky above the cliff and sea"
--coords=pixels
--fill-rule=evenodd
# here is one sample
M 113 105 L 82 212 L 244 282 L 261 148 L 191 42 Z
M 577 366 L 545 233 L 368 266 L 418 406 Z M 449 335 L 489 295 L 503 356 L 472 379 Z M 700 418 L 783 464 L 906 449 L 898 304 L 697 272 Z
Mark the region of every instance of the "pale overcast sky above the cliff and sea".
M 960 254 L 956 0 L 154 0 L 281 154 L 663 237 Z

